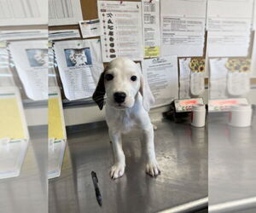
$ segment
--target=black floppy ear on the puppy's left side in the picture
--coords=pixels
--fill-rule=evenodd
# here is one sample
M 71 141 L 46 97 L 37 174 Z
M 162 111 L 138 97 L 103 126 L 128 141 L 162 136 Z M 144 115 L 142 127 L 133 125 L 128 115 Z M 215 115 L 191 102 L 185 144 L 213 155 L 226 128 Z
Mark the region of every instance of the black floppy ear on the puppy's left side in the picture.
M 104 70 L 104 72 L 102 72 L 99 82 L 96 86 L 96 90 L 94 91 L 94 93 L 92 95 L 93 101 L 96 101 L 96 104 L 98 105 L 100 110 L 102 110 L 102 108 L 103 108 L 104 95 L 106 93 L 105 84 L 104 84 L 104 75 L 105 75 L 106 70 L 107 70 L 107 68 Z

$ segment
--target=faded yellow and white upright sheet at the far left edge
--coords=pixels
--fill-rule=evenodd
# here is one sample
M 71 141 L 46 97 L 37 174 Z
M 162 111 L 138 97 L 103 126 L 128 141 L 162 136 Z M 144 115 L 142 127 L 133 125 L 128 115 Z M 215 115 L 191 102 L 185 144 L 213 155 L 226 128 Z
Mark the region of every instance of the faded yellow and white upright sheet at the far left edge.
M 0 179 L 20 176 L 29 134 L 18 88 L 0 88 L 0 118 Z

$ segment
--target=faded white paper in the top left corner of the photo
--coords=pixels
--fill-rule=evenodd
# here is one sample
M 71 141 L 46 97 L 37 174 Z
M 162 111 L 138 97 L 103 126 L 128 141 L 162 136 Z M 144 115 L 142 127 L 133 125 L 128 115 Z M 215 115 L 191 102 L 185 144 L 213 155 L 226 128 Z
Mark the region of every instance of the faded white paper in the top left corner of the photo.
M 0 26 L 48 24 L 48 0 L 0 0 Z

